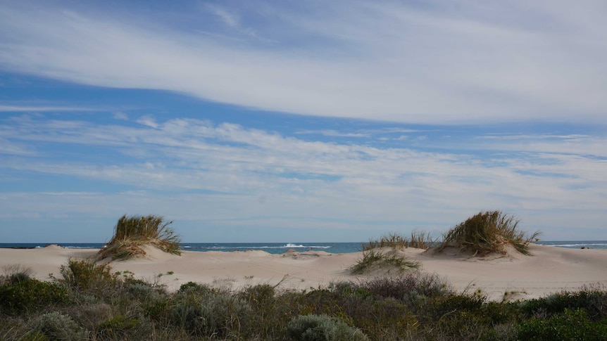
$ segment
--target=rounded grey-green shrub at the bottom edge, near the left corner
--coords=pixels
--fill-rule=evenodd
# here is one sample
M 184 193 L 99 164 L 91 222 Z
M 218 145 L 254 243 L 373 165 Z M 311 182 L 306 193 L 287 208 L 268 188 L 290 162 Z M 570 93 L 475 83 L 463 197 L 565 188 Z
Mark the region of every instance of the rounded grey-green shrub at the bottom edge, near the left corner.
M 75 323 L 70 316 L 57 311 L 37 316 L 27 323 L 28 330 L 44 334 L 49 340 L 87 340 L 89 333 Z

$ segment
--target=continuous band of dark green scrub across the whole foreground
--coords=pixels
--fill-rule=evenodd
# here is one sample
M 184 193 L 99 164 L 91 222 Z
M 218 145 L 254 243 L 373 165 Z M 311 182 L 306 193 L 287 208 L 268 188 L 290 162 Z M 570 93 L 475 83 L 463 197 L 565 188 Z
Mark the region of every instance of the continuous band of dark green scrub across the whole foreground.
M 421 271 L 299 291 L 189 282 L 168 292 L 75 260 L 51 282 L 30 275 L 0 276 L 1 340 L 607 339 L 607 290 L 599 285 L 492 302 Z

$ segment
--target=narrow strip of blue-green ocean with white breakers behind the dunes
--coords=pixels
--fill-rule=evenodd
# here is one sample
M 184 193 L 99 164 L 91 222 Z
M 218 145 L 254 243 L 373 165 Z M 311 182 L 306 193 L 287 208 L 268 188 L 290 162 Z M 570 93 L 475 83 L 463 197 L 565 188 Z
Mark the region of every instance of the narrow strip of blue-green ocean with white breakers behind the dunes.
M 35 248 L 49 244 L 58 244 L 74 249 L 98 249 L 104 246 L 104 243 L 0 243 L 0 247 Z M 537 244 L 571 249 L 582 247 L 607 249 L 607 240 L 539 241 Z M 361 251 L 362 243 L 181 243 L 181 247 L 182 250 L 198 252 L 261 250 L 273 254 L 282 254 L 287 250 L 315 250 L 330 253 L 349 253 Z

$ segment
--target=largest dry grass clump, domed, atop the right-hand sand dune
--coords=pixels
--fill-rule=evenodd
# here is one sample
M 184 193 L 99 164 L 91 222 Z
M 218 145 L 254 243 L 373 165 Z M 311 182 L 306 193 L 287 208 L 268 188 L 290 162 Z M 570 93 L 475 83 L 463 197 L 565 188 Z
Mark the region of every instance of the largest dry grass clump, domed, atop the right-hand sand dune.
M 457 247 L 484 257 L 492 252 L 506 255 L 507 247 L 512 246 L 523 255 L 531 255 L 529 243 L 537 240 L 540 233 L 527 235 L 518 229 L 518 222 L 501 211 L 480 212 L 447 231 L 437 250 Z

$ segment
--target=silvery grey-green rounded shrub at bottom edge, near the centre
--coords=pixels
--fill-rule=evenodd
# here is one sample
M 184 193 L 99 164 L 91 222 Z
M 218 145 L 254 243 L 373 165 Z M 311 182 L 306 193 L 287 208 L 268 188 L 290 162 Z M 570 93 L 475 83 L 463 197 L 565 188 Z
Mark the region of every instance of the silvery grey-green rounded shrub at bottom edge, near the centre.
M 327 315 L 296 316 L 289 321 L 287 334 L 297 341 L 368 340 L 361 330 Z

